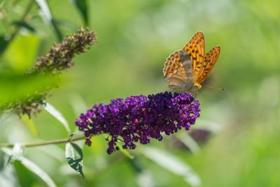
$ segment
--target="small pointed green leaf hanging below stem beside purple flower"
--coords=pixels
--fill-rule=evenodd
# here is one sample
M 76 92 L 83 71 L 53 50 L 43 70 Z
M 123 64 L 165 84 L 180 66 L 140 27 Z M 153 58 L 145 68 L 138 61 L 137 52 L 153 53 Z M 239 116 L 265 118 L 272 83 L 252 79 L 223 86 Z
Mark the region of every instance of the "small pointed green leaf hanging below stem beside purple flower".
M 78 174 L 81 174 L 83 178 L 85 178 L 83 174 L 82 149 L 77 144 L 67 143 L 65 148 L 65 157 L 69 166 L 78 172 Z

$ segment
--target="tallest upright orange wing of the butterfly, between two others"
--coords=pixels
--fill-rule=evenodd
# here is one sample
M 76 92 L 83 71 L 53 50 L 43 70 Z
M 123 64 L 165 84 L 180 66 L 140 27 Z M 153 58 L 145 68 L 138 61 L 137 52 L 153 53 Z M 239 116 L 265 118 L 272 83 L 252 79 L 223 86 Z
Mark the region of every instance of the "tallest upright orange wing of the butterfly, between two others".
M 197 32 L 192 39 L 183 47 L 190 60 L 193 62 L 193 77 L 197 79 L 202 73 L 203 58 L 205 54 L 205 41 L 202 32 Z

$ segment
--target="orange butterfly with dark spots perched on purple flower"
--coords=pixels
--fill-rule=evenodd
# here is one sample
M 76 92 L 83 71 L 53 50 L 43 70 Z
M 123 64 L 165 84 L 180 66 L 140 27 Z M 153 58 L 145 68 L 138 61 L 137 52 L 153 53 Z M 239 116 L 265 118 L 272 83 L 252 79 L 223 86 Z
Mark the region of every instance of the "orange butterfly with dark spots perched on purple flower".
M 195 33 L 182 50 L 176 50 L 165 62 L 163 76 L 169 88 L 174 92 L 197 93 L 216 64 L 220 51 L 221 47 L 216 46 L 205 55 L 204 35 Z

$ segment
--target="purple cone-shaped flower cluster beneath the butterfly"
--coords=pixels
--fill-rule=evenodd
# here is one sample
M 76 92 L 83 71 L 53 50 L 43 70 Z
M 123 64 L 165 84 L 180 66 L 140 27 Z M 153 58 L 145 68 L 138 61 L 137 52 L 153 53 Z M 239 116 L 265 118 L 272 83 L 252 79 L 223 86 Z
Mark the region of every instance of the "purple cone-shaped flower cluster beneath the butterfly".
M 94 134 L 109 134 L 107 139 L 111 154 L 123 148 L 136 148 L 135 142 L 148 144 L 151 138 L 162 140 L 161 132 L 169 135 L 190 125 L 200 116 L 200 102 L 189 93 L 161 92 L 156 95 L 131 96 L 112 99 L 110 104 L 95 104 L 76 120 L 79 130 L 85 134 L 88 146 Z

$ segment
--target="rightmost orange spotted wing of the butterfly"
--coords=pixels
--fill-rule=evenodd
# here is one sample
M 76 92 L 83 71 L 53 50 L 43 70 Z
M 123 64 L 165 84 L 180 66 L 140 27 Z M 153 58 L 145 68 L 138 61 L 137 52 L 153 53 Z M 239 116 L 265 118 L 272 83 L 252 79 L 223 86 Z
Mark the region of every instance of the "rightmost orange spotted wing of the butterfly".
M 211 49 L 204 57 L 203 67 L 202 67 L 202 73 L 200 74 L 197 79 L 195 79 L 195 83 L 201 84 L 207 75 L 210 73 L 210 71 L 215 66 L 218 57 L 220 55 L 221 47 L 216 46 L 215 48 Z

